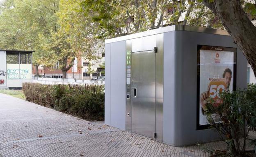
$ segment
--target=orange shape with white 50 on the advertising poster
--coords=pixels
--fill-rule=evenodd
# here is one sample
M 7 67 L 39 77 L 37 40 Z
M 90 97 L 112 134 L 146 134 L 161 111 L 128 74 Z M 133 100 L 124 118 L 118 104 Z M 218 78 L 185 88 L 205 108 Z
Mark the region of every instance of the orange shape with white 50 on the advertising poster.
M 224 89 L 226 88 L 226 83 L 224 79 L 220 78 L 216 81 L 210 81 L 208 88 L 208 95 L 215 101 L 213 105 L 219 106 L 220 104 L 222 104 L 223 100 L 221 100 L 219 93 L 222 93 L 222 91 L 224 91 Z

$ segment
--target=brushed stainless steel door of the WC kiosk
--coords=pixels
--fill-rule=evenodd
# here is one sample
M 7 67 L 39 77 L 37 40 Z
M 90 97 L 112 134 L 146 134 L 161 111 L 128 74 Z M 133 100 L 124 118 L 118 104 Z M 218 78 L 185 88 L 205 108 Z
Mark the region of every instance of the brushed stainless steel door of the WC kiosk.
M 132 53 L 132 132 L 154 138 L 155 53 Z

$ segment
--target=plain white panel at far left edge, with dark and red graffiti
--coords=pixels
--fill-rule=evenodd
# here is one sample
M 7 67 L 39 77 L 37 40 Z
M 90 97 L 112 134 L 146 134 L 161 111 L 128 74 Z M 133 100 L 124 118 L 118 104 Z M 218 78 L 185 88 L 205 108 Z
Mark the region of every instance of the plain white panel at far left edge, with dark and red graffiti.
M 0 51 L 0 88 L 6 87 L 6 52 Z

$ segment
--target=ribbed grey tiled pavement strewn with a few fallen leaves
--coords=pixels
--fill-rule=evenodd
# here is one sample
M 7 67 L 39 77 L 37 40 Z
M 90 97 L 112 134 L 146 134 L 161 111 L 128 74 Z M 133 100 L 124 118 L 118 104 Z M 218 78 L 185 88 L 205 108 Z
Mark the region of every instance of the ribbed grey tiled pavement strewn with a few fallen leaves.
M 0 157 L 207 157 L 201 146 L 173 147 L 0 93 Z

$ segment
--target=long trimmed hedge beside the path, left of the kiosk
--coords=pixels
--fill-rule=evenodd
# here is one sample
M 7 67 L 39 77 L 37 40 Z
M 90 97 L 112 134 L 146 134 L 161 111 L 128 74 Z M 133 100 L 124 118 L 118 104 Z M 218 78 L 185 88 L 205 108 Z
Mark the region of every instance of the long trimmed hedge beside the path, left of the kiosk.
M 104 120 L 103 85 L 23 83 L 27 101 L 88 120 Z

